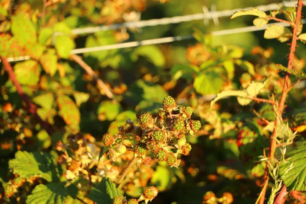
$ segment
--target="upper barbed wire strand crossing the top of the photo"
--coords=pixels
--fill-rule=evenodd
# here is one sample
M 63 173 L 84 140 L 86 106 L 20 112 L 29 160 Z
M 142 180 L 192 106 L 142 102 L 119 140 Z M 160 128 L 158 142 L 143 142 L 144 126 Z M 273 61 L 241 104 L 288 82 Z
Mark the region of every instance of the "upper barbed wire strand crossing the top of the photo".
M 303 1 L 303 3 L 306 4 L 306 1 Z M 260 5 L 260 6 L 256 6 L 256 8 L 258 8 L 261 11 L 269 11 L 269 10 L 279 9 L 279 5 L 284 5 L 286 7 L 296 7 L 297 1 L 283 1 L 283 3 L 280 3 L 280 4 Z M 112 25 L 100 25 L 97 27 L 78 28 L 78 29 L 73 29 L 71 33 L 73 35 L 80 35 L 80 34 L 95 33 L 98 31 L 118 30 L 120 28 L 143 28 L 143 27 L 148 27 L 148 26 L 181 23 L 181 22 L 187 22 L 187 21 L 192 21 L 192 20 L 217 19 L 220 17 L 231 16 L 236 11 L 249 10 L 254 7 L 246 7 L 246 8 L 241 8 L 241 9 L 232 9 L 232 10 L 223 10 L 223 11 L 208 11 L 207 8 L 206 9 L 204 8 L 205 7 L 203 7 L 203 11 L 204 11 L 203 13 L 190 14 L 190 15 L 184 15 L 184 16 L 174 16 L 174 17 L 169 17 L 169 18 L 123 22 L 123 23 L 116 23 Z M 59 35 L 59 33 L 57 35 Z

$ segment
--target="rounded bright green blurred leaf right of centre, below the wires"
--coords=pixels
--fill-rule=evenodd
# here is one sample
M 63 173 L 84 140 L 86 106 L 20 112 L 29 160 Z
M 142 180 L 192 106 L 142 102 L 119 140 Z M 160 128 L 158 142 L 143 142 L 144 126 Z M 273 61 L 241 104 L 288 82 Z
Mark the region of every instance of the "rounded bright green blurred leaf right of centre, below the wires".
M 202 73 L 195 78 L 193 86 L 203 95 L 218 93 L 222 88 L 222 77 L 214 71 Z

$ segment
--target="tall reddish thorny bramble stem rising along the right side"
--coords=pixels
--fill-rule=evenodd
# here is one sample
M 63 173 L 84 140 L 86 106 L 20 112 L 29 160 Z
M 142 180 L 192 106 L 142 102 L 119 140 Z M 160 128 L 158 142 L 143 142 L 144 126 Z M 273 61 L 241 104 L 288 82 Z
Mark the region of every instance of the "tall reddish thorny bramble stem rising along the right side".
M 295 53 L 295 49 L 296 49 L 298 24 L 299 24 L 299 21 L 301 19 L 302 6 L 303 6 L 303 1 L 298 0 L 296 18 L 295 18 L 295 23 L 294 23 L 294 27 L 293 27 L 292 42 L 291 42 L 290 53 L 289 53 L 289 61 L 288 61 L 288 67 L 287 67 L 289 70 L 291 70 L 292 67 L 293 67 L 293 57 L 294 57 L 294 53 Z M 285 102 L 286 102 L 286 96 L 287 96 L 287 93 L 288 93 L 287 89 L 289 87 L 289 77 L 290 77 L 290 73 L 287 72 L 285 80 L 284 80 L 281 99 L 279 100 L 279 104 L 278 104 L 278 107 L 277 107 L 277 117 L 282 117 L 282 114 L 283 114 L 284 105 L 285 105 Z M 278 122 L 277 122 L 277 119 L 276 119 L 275 123 L 274 123 L 274 130 L 273 130 L 273 133 L 270 137 L 269 160 L 274 158 L 274 152 L 275 152 L 275 146 L 276 146 L 276 140 L 274 138 L 276 138 L 277 126 L 278 126 Z M 268 167 L 266 167 L 264 180 L 265 180 L 265 182 L 267 180 L 269 180 Z M 286 190 L 285 185 L 282 187 L 282 191 L 284 191 L 283 189 Z M 261 194 L 263 194 L 264 196 L 261 197 L 260 202 L 259 202 L 260 204 L 264 203 L 264 198 L 263 197 L 265 197 L 266 190 L 267 190 L 266 188 L 262 189 Z M 286 197 L 286 194 L 285 194 L 285 197 Z M 285 200 L 283 200 L 283 201 L 285 201 Z

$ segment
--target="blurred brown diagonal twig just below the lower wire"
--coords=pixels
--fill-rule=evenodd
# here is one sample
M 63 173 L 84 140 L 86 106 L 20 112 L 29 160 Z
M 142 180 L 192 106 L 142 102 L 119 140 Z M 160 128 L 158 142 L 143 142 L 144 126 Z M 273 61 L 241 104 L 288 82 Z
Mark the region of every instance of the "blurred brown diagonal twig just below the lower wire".
M 82 58 L 78 55 L 74 55 L 74 54 L 71 54 L 70 55 L 70 58 L 78 63 L 96 82 L 97 82 L 97 85 L 104 90 L 105 92 L 105 95 L 109 98 L 114 98 L 114 94 L 112 93 L 112 91 L 110 90 L 109 87 L 106 86 L 106 84 L 100 79 L 98 78 L 98 76 L 94 73 L 94 71 L 92 70 L 92 68 L 90 66 L 88 66 L 86 64 L 86 62 L 84 62 L 82 60 Z

